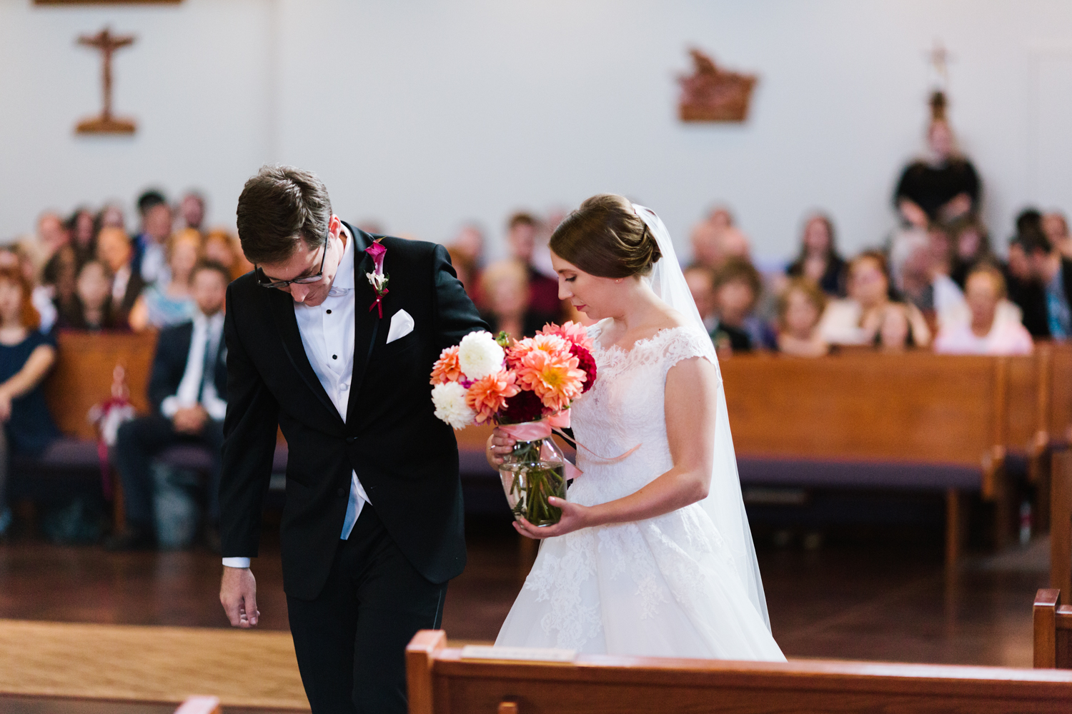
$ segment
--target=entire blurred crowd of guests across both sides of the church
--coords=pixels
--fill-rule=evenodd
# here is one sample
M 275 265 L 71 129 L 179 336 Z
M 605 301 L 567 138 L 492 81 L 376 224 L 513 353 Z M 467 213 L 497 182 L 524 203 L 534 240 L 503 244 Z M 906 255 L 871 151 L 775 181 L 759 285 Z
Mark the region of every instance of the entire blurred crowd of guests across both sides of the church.
M 981 219 L 982 181 L 958 150 L 944 107 L 936 93 L 926 155 L 903 169 L 891 207 L 897 227 L 874 248 L 843 255 L 833 217 L 814 213 L 802 222 L 792 260 L 761 272 L 730 209 L 717 207 L 694 227 L 685 276 L 720 356 L 761 350 L 814 358 L 847 349 L 1026 354 L 1037 339 L 1072 336 L 1064 215 L 1024 209 L 1000 258 Z M 225 373 L 211 364 L 225 369 L 223 288 L 252 269 L 237 237 L 205 229 L 198 194 L 173 204 L 148 191 L 137 211 L 133 234 L 115 206 L 78 208 L 66 217 L 46 212 L 35 236 L 0 247 L 0 454 L 38 455 L 58 437 L 41 389 L 56 359 L 57 331 L 159 330 L 158 344 L 170 346 L 166 354 L 158 350 L 153 367 L 159 394 L 146 419 L 154 421 L 119 435 L 116 460 L 136 497 L 128 519 L 139 527 L 117 548 L 151 542 L 151 455 L 184 437 L 219 440 Z M 548 242 L 564 217 L 563 211 L 509 216 L 500 260 L 487 258 L 476 224 L 447 241 L 459 278 L 494 332 L 522 337 L 550 321 L 589 322 L 557 297 Z M 384 232 L 374 223 L 359 227 Z M 220 389 L 217 378 L 224 380 Z M 182 394 L 195 395 L 196 404 L 187 398 L 176 407 Z M 0 535 L 10 521 L 9 465 L 0 455 Z M 138 483 L 126 484 L 126 472 Z

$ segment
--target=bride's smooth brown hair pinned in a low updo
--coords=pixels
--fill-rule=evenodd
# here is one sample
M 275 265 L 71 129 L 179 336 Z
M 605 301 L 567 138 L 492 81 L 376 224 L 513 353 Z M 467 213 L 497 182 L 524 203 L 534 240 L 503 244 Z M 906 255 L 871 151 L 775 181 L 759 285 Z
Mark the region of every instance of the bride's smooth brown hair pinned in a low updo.
M 624 196 L 599 194 L 559 224 L 551 249 L 597 277 L 647 275 L 662 254 L 655 237 Z

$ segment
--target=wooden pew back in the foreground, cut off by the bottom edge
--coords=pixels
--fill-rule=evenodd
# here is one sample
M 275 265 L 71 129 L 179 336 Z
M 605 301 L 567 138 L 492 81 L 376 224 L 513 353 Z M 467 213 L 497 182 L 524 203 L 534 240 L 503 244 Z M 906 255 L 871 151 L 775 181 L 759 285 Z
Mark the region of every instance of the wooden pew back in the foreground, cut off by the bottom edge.
M 1072 711 L 1072 671 L 801 659 L 581 655 L 464 660 L 442 631 L 406 648 L 411 714 Z

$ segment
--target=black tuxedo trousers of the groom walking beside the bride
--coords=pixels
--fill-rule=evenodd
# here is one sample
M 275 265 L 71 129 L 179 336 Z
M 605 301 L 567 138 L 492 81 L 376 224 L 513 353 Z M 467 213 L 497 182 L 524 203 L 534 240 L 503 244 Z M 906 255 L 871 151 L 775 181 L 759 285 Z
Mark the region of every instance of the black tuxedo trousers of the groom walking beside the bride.
M 366 503 L 316 599 L 286 598 L 313 714 L 405 714 L 405 647 L 418 629 L 438 628 L 446 593 Z

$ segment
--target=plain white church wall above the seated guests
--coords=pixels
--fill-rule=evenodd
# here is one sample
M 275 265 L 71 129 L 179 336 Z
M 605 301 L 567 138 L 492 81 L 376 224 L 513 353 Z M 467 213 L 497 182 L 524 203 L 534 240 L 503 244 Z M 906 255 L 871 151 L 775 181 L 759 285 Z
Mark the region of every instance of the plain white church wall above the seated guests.
M 138 35 L 116 55 L 133 138 L 72 132 L 99 107 L 98 56 L 74 37 L 105 24 Z M 243 180 L 278 161 L 319 172 L 344 217 L 429 240 L 614 191 L 682 244 L 725 201 L 761 257 L 789 255 L 815 207 L 851 250 L 892 225 L 936 39 L 996 237 L 1025 202 L 1072 209 L 1072 156 L 1038 146 L 1068 106 L 1039 95 L 1068 85 L 1062 0 L 0 0 L 0 239 L 147 185 L 200 186 L 233 225 Z M 760 75 L 746 125 L 676 120 L 694 44 Z

